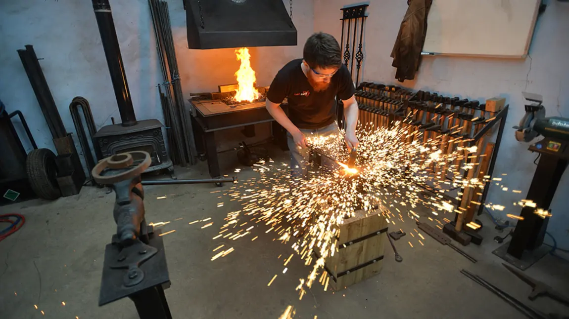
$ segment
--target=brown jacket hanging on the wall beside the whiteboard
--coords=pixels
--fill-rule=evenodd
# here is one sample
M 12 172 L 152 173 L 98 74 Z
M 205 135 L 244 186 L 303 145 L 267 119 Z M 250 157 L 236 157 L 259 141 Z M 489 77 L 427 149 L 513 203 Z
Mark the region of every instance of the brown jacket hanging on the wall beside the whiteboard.
M 409 0 L 407 12 L 399 27 L 399 33 L 391 57 L 397 68 L 395 78 L 399 82 L 414 79 L 419 69 L 421 51 L 427 34 L 427 16 L 432 0 Z

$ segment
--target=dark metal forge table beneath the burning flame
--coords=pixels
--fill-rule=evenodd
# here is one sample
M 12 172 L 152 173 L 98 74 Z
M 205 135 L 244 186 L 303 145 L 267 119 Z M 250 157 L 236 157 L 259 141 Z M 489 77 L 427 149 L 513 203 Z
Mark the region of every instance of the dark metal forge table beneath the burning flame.
M 217 144 L 215 132 L 224 129 L 245 127 L 245 136 L 253 133 L 253 125 L 271 123 L 271 131 L 275 142 L 283 150 L 286 146 L 286 130 L 273 119 L 265 108 L 265 102 L 254 102 L 238 106 L 228 106 L 221 100 L 189 99 L 191 105 L 191 118 L 196 138 L 197 152 L 205 153 L 208 161 L 209 175 L 212 178 L 221 177 L 219 159 L 217 157 Z M 288 113 L 288 104 L 281 107 Z

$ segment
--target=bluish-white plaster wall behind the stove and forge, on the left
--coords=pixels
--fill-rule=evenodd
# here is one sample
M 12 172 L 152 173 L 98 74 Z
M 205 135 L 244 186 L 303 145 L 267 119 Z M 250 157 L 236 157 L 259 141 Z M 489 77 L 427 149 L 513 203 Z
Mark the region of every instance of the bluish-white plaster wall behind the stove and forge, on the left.
M 184 99 L 189 98 L 190 92 L 216 91 L 217 85 L 235 83 L 233 74 L 239 68 L 239 61 L 234 49 L 189 50 L 182 0 L 167 2 Z M 292 14 L 299 45 L 251 48 L 251 64 L 257 71 L 258 85 L 270 85 L 283 64 L 301 57 L 304 41 L 312 33 L 312 0 L 294 2 Z M 288 9 L 288 0 L 283 3 Z M 163 122 L 156 87 L 163 79 L 148 2 L 110 0 L 110 5 L 137 119 L 155 118 Z M 68 108 L 75 96 L 89 101 L 97 129 L 111 124 L 111 117 L 117 123 L 121 121 L 90 1 L 0 0 L 0 99 L 8 111 L 23 112 L 40 148 L 55 150 L 16 51 L 24 49 L 26 44 L 33 45 L 38 57 L 43 58 L 40 65 L 68 132 L 75 133 Z M 233 131 L 220 134 L 220 149 L 237 145 L 230 140 L 232 136 L 241 140 L 238 129 L 234 131 L 237 134 Z M 24 144 L 27 150 L 31 149 L 26 141 Z

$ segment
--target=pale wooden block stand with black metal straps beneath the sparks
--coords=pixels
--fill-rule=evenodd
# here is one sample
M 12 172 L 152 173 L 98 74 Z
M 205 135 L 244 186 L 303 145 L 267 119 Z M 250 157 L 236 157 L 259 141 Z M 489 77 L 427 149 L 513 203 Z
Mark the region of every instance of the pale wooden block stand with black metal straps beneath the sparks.
M 336 291 L 378 274 L 383 266 L 387 220 L 382 211 L 357 211 L 340 226 L 337 251 L 325 262 Z

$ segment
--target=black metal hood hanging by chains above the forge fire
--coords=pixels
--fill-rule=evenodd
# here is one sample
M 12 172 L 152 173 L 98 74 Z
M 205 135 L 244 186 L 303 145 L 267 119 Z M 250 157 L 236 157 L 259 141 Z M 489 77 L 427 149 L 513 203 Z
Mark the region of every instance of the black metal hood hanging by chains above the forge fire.
M 188 48 L 296 45 L 282 0 L 185 0 Z

